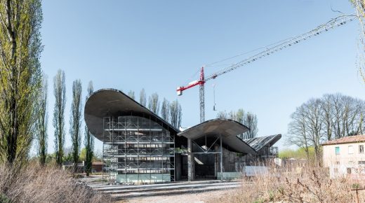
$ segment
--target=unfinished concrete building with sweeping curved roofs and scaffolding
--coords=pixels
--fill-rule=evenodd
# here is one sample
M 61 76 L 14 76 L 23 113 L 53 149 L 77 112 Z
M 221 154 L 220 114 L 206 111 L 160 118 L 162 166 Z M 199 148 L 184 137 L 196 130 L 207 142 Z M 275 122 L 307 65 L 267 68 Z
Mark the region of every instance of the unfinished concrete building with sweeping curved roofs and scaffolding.
M 258 160 L 277 156 L 281 134 L 242 140 L 248 128 L 208 120 L 180 131 L 119 90 L 88 98 L 84 118 L 103 143 L 104 171 L 118 183 L 159 183 L 241 176 Z

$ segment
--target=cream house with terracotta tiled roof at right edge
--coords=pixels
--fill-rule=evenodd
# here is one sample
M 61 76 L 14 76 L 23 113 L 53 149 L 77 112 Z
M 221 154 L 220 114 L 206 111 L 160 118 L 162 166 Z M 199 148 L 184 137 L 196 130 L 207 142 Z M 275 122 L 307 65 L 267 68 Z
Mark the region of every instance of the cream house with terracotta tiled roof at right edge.
M 365 176 L 365 135 L 326 141 L 322 146 L 324 167 L 331 178 Z

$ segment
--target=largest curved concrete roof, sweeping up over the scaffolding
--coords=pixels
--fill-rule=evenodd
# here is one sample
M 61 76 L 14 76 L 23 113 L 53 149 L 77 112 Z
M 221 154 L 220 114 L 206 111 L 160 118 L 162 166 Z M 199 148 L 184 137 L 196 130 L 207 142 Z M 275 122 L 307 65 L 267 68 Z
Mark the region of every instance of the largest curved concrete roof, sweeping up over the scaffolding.
M 84 109 L 85 123 L 96 138 L 102 141 L 103 118 L 108 116 L 123 116 L 131 114 L 141 116 L 162 123 L 163 127 L 172 130 L 173 132 L 180 132 L 170 123 L 157 116 L 155 113 L 142 106 L 134 99 L 128 97 L 120 90 L 102 89 L 94 92 L 86 101 Z

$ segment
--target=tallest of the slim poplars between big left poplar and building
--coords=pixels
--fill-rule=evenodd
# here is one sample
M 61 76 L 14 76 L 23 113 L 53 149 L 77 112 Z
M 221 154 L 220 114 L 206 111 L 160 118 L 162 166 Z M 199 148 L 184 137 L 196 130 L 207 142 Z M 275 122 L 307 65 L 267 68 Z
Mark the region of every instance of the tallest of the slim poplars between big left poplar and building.
M 65 145 L 65 104 L 66 87 L 65 72 L 58 70 L 53 78 L 53 94 L 55 94 L 55 107 L 53 109 L 53 127 L 55 128 L 55 160 L 62 165 Z

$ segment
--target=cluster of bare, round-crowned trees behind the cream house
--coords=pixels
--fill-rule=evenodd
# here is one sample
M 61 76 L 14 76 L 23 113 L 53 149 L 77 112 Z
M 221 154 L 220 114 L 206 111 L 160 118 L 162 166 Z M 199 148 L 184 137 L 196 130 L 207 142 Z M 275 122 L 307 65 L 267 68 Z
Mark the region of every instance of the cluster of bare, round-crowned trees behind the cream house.
M 298 106 L 288 124 L 287 143 L 314 148 L 315 160 L 321 160 L 320 145 L 324 141 L 339 139 L 365 132 L 365 102 L 343 94 L 324 94 Z

